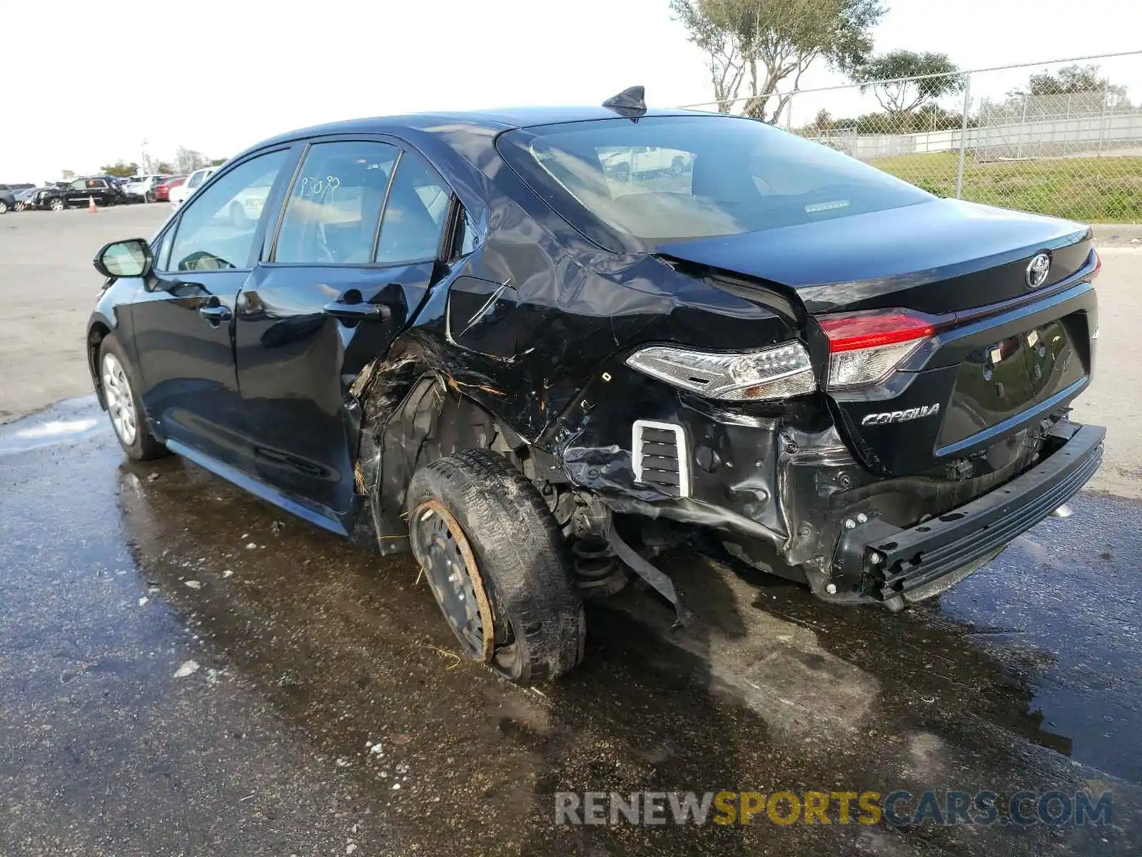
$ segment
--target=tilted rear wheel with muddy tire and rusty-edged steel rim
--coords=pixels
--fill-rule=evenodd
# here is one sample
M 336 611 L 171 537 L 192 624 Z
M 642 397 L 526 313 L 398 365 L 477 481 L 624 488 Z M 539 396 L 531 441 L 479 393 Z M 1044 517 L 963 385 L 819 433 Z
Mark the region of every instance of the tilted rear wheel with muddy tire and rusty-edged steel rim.
M 466 449 L 412 476 L 412 552 L 465 655 L 516 684 L 582 659 L 582 600 L 536 487 L 502 457 Z M 475 604 L 473 604 L 475 600 Z

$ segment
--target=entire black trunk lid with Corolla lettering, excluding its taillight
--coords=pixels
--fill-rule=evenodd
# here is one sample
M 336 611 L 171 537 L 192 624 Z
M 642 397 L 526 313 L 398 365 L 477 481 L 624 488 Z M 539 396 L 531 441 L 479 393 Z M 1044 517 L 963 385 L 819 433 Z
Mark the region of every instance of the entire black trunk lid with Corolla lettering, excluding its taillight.
M 930 338 L 887 378 L 827 390 L 850 448 L 885 475 L 1011 467 L 1029 455 L 1029 432 L 1089 383 L 1097 309 L 1089 278 L 1076 275 L 1091 266 L 1086 226 L 933 200 L 658 251 L 791 289 L 819 320 L 894 307 L 933 317 Z M 1049 267 L 1032 288 L 1038 254 Z M 812 322 L 807 333 L 823 379 L 829 341 Z

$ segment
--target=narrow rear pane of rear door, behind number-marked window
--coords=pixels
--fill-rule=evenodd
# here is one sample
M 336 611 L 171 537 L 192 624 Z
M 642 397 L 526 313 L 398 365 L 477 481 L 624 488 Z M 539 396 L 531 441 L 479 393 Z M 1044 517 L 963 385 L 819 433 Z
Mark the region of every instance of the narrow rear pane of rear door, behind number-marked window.
M 388 191 L 376 261 L 383 264 L 434 258 L 448 218 L 449 192 L 421 155 L 405 151 Z

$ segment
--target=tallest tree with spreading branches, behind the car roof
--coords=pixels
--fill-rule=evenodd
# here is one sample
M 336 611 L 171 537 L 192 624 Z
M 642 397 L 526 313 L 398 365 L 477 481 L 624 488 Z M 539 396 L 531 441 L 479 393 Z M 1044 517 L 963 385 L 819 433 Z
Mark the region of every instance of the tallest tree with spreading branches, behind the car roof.
M 718 111 L 775 122 L 818 59 L 851 72 L 872 49 L 879 0 L 670 0 L 689 39 L 707 55 Z M 788 81 L 791 86 L 778 91 Z

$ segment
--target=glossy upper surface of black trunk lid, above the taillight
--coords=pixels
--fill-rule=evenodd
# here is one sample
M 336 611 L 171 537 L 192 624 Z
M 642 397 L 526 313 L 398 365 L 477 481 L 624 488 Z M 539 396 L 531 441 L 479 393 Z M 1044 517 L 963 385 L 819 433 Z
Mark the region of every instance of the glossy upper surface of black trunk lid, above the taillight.
M 1089 229 L 1069 221 L 933 199 L 657 251 L 791 288 L 810 313 L 906 306 L 939 314 L 1027 294 L 1027 263 L 1039 251 L 1052 257 L 1044 285 L 1057 282 L 1083 266 L 1088 243 Z

